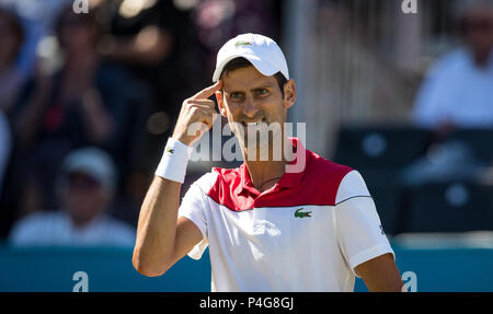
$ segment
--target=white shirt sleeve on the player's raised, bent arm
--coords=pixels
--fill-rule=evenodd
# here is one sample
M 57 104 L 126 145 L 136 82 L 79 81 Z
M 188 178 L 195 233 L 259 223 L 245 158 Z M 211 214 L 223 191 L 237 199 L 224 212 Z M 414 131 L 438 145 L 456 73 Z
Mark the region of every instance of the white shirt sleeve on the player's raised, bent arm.
M 208 246 L 207 237 L 207 220 L 206 220 L 206 202 L 202 189 L 196 184 L 192 184 L 190 189 L 183 197 L 179 209 L 179 217 L 190 219 L 200 230 L 202 241 L 197 243 L 188 256 L 193 259 L 200 259 L 204 251 Z

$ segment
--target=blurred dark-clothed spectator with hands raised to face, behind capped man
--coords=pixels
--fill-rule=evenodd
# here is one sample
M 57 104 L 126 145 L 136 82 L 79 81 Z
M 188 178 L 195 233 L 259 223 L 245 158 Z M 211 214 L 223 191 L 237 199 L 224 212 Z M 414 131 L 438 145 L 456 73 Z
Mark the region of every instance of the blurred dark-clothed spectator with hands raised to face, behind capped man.
M 58 162 L 84 146 L 105 148 L 122 171 L 138 151 L 139 106 L 145 102 L 130 77 L 102 62 L 96 54 L 100 28 L 95 10 L 76 14 L 71 4 L 61 11 L 56 35 L 64 55 L 61 69 L 47 74 L 39 67 L 14 113 L 19 144 L 15 159 L 20 214 L 36 208 L 56 208 L 54 177 Z M 127 173 L 122 173 L 123 178 Z M 24 197 L 26 195 L 38 197 Z M 42 203 L 33 203 L 41 198 Z

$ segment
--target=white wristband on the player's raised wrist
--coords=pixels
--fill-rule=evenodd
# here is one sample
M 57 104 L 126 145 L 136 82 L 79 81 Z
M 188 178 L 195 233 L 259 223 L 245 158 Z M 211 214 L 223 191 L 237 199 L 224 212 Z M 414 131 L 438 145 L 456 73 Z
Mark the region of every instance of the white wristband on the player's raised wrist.
M 193 151 L 193 147 L 169 138 L 161 162 L 154 174 L 167 179 L 184 183 L 186 166 L 188 165 L 188 160 Z

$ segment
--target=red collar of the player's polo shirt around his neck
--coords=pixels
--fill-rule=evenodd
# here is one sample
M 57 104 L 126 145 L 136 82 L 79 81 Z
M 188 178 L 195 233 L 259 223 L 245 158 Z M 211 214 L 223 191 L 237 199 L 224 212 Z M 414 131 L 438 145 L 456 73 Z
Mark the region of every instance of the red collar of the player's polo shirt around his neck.
M 308 152 L 305 149 L 305 147 L 302 146 L 301 141 L 298 138 L 288 138 L 291 143 L 293 147 L 295 148 L 295 159 L 289 162 L 290 165 L 296 164 L 298 158 L 297 155 L 300 153 L 305 153 L 306 154 L 306 162 L 308 162 Z M 303 168 L 303 171 L 298 172 L 298 173 L 288 173 L 285 172 L 283 177 L 277 182 L 277 186 L 279 187 L 285 187 L 285 188 L 291 188 L 297 186 L 298 184 L 301 183 L 303 175 L 305 175 L 305 171 L 306 167 Z M 240 166 L 240 177 L 241 177 L 241 183 L 239 188 L 237 189 L 237 194 L 241 194 L 243 190 L 248 190 L 250 193 L 253 194 L 259 194 L 259 191 L 256 190 L 255 186 L 252 183 L 252 179 L 250 178 L 250 173 L 249 173 L 249 168 L 246 165 L 246 162 L 243 162 L 243 164 Z

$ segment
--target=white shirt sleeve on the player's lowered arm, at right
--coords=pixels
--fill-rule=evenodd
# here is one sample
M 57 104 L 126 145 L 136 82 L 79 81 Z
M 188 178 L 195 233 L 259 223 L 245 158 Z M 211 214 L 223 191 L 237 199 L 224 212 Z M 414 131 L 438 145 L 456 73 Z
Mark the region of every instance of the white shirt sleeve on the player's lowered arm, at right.
M 353 270 L 375 257 L 391 253 L 375 202 L 357 171 L 341 182 L 334 211 L 336 236 L 341 251 Z

